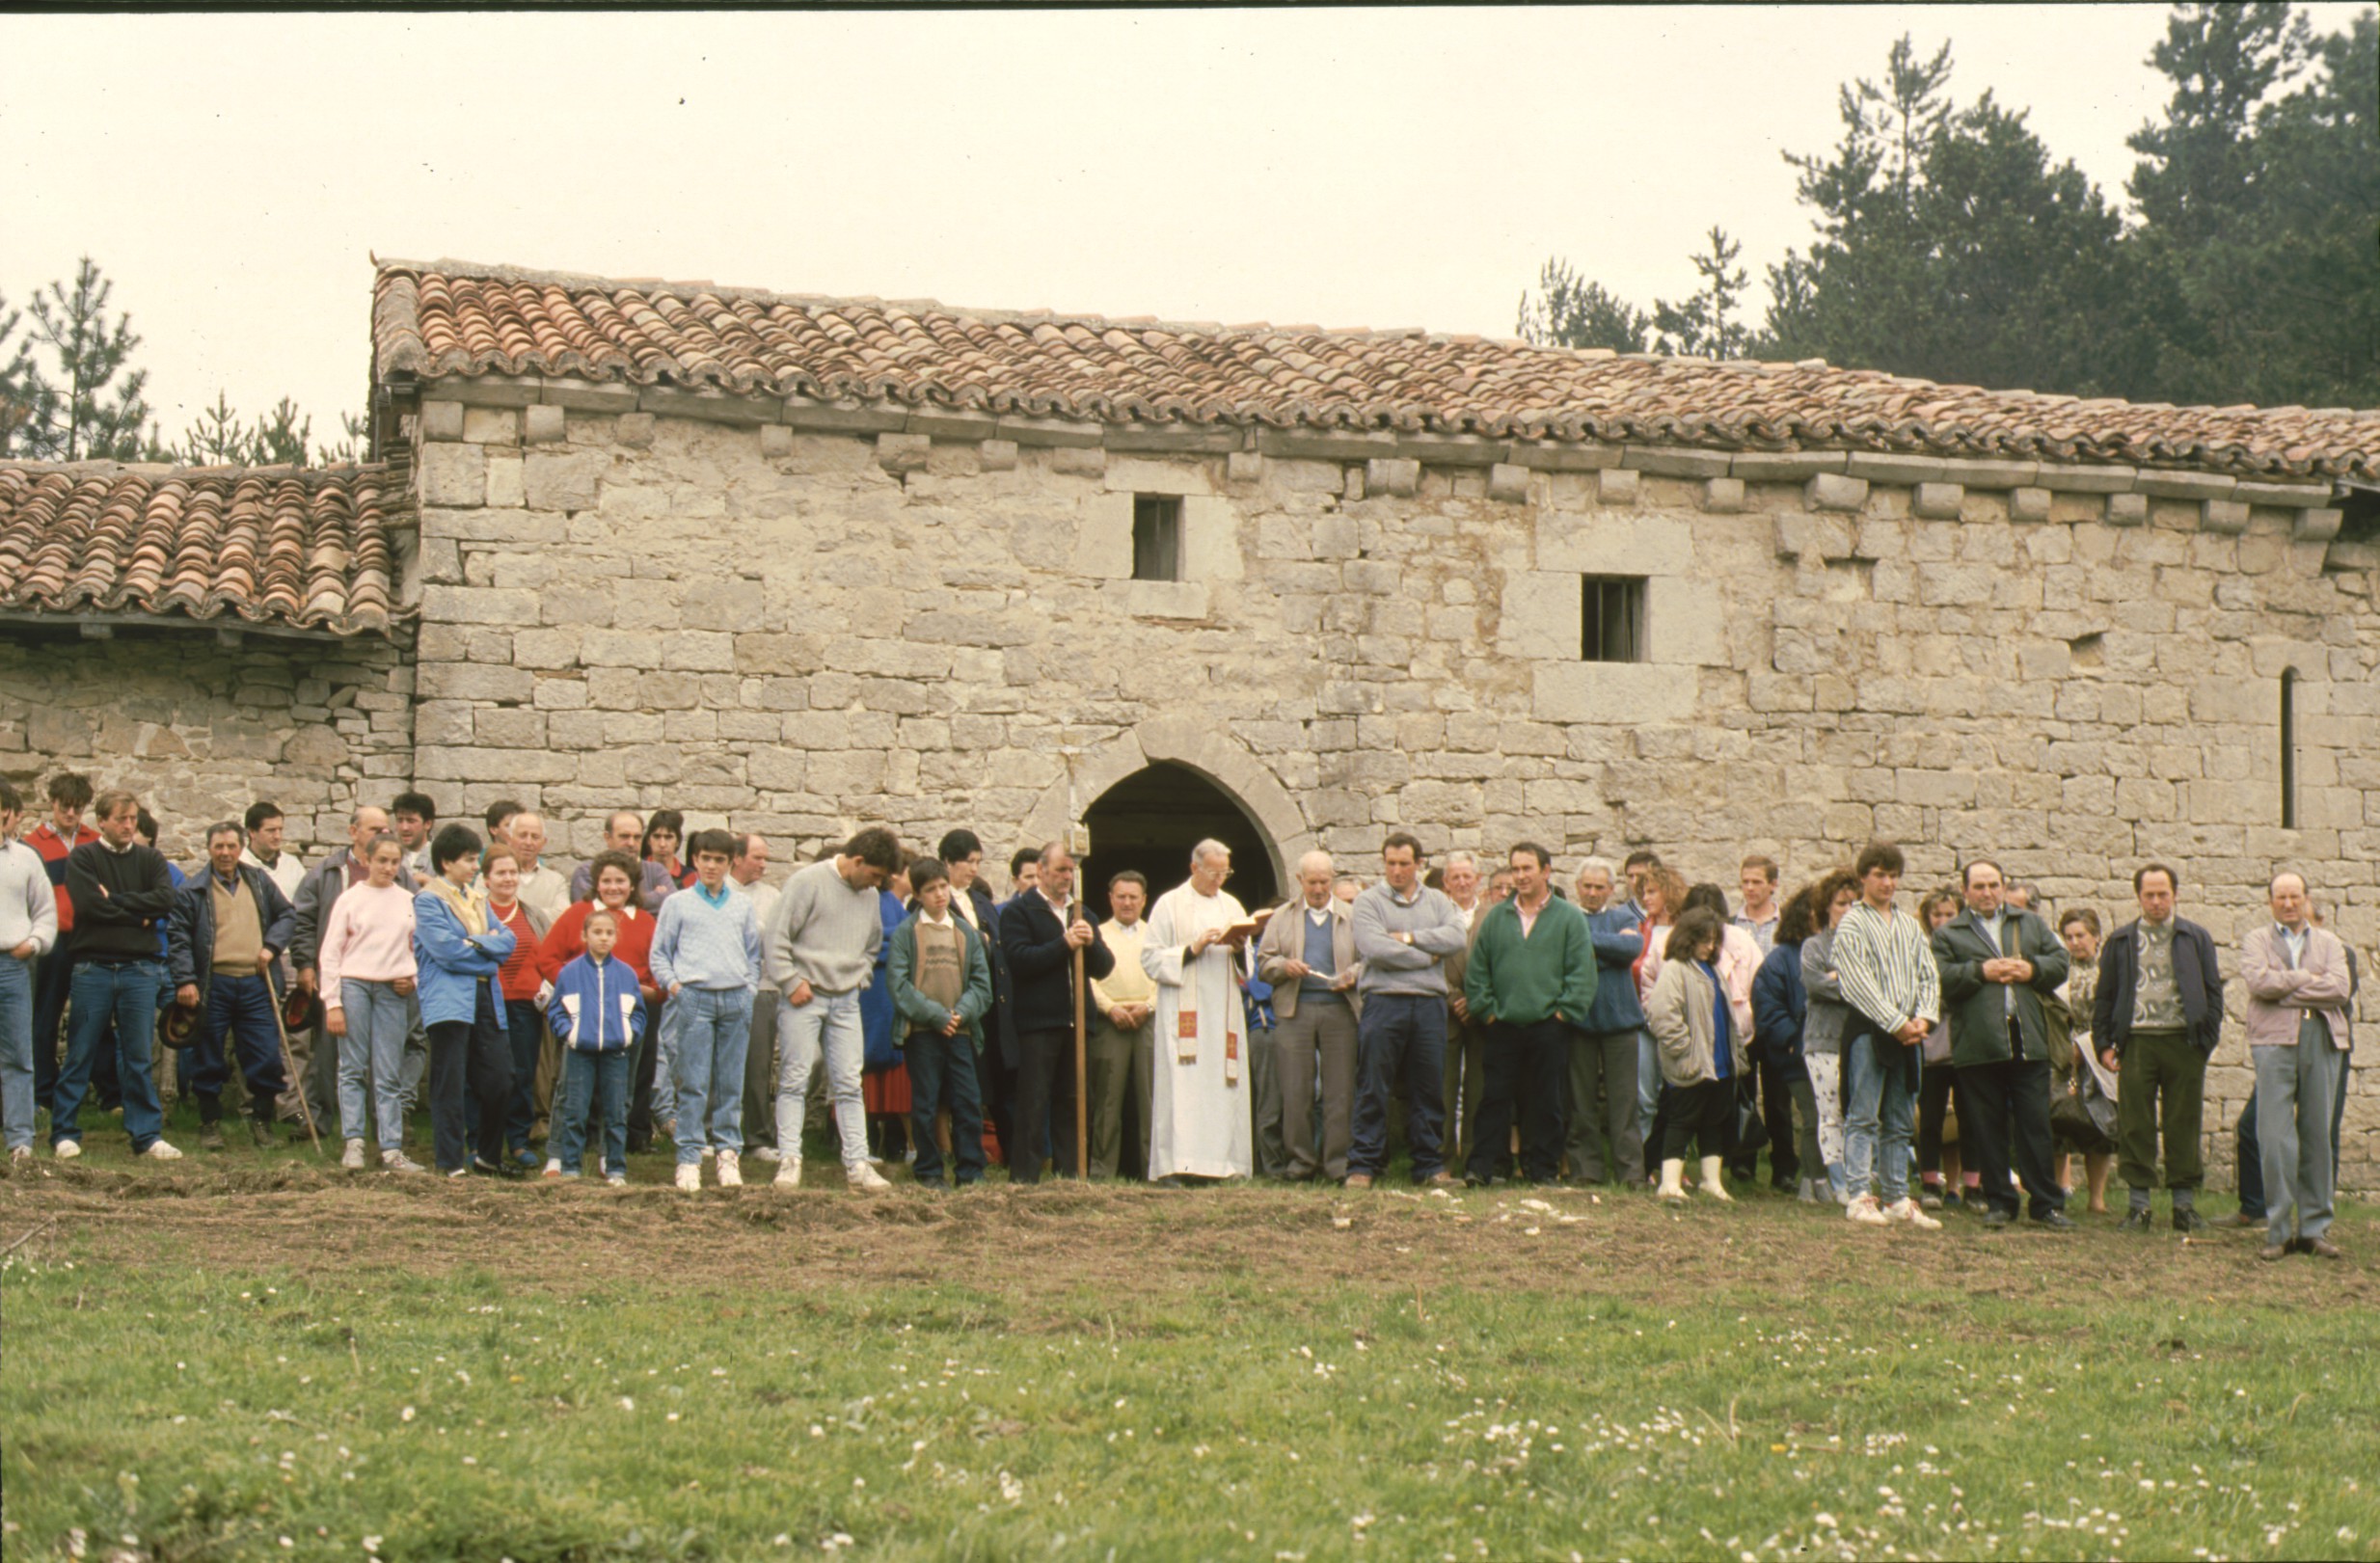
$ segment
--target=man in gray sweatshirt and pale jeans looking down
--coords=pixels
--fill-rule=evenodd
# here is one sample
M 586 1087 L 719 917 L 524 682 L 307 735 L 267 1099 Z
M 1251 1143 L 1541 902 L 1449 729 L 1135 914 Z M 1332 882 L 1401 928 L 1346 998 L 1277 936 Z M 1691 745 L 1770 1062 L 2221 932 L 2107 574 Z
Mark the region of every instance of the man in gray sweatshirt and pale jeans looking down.
M 859 1101 L 866 1042 L 859 992 L 876 975 L 885 925 L 878 890 L 900 868 L 900 837 L 869 826 L 843 852 L 785 880 L 762 935 L 762 980 L 781 997 L 776 1018 L 776 1185 L 802 1182 L 802 1101 L 826 1056 L 826 1087 L 843 1135 L 843 1173 L 854 1189 L 890 1187 L 869 1166 L 869 1118 Z

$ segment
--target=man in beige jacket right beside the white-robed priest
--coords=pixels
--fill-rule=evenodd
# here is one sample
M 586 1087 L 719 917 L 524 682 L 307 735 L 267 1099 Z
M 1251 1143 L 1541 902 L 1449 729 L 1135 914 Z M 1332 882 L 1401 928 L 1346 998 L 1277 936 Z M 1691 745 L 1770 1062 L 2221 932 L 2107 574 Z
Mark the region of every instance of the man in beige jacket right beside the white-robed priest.
M 1354 1137 L 1354 918 L 1330 895 L 1328 852 L 1297 859 L 1299 899 L 1283 906 L 1257 940 L 1257 975 L 1273 985 L 1273 1032 L 1280 1073 L 1280 1137 L 1290 1182 L 1347 1178 Z M 1321 1149 L 1314 1144 L 1314 1078 L 1323 1085 Z

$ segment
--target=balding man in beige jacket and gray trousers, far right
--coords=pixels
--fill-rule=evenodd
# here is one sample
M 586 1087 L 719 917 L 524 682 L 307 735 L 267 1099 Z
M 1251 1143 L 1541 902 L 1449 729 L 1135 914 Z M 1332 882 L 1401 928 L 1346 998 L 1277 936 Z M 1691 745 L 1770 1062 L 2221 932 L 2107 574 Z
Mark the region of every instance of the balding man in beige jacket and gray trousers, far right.
M 2240 942 L 2247 1052 L 2256 1061 L 2256 1142 L 2263 1147 L 2266 1239 L 2259 1258 L 2301 1247 L 2337 1258 L 2330 1242 L 2330 1104 L 2347 1056 L 2347 947 L 2316 928 L 2306 880 L 2275 873 L 2273 921 Z M 2297 1239 L 2290 1209 L 2297 1206 Z

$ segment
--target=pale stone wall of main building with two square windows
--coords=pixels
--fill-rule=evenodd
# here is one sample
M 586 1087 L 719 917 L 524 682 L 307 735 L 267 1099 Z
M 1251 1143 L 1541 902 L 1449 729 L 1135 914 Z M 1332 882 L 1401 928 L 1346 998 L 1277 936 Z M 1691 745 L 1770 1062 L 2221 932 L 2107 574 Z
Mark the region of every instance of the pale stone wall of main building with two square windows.
M 416 419 L 416 778 L 443 809 L 536 802 L 578 854 L 621 802 L 781 856 L 873 818 L 1035 840 L 1173 759 L 1283 864 L 1404 826 L 1568 864 L 1652 842 L 1733 885 L 1749 849 L 1799 880 L 1892 835 L 1911 885 L 1992 852 L 2121 918 L 2171 856 L 2230 942 L 2287 861 L 2380 942 L 2380 576 L 2323 488 L 1283 431 L 1157 452 L 614 390 Z M 1135 492 L 1183 500 L 1185 580 L 1130 578 Z M 1647 578 L 1642 664 L 1578 659 L 1585 573 Z M 2232 1042 L 2211 1121 L 2247 1087 Z M 2380 1111 L 2349 1123 L 2370 1166 Z

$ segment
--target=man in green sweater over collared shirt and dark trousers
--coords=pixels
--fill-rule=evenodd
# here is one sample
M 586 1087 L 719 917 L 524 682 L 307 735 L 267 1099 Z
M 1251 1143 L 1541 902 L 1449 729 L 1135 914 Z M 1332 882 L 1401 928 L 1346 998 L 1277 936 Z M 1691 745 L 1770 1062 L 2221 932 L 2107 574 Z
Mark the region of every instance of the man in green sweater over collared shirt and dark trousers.
M 1561 1094 L 1568 1082 L 1571 1028 L 1595 1004 L 1595 940 L 1587 916 L 1559 899 L 1545 847 L 1511 849 L 1511 899 L 1480 916 L 1471 935 L 1464 1004 L 1488 1030 L 1488 1090 L 1464 1182 L 1495 1180 L 1521 1106 L 1521 1173 L 1530 1182 L 1561 1178 Z

